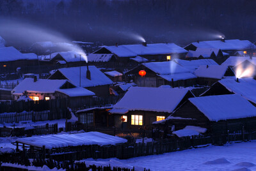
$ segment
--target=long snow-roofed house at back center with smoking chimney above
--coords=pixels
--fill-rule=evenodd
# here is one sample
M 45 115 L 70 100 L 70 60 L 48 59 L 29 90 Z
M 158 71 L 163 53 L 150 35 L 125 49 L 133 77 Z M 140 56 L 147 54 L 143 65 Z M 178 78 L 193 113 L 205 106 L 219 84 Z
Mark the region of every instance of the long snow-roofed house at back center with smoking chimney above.
M 142 43 L 140 45 L 115 45 L 102 47 L 93 54 L 113 54 L 118 65 L 123 68 L 132 68 L 131 58 L 143 57 L 149 61 L 170 61 L 176 57 L 185 57 L 188 51 L 175 43 Z M 138 58 L 138 57 L 137 57 Z M 137 61 L 138 62 L 138 61 Z

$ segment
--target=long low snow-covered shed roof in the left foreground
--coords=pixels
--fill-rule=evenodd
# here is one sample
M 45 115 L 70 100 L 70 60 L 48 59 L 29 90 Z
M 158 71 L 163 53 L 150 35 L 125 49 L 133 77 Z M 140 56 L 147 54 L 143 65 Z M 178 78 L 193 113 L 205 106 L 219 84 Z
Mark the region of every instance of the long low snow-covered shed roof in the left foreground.
M 99 132 L 86 132 L 75 134 L 56 134 L 42 135 L 28 138 L 19 138 L 16 142 L 33 145 L 35 147 L 43 147 L 45 149 L 53 149 L 60 147 L 71 147 L 80 145 L 115 145 L 127 142 L 126 139 L 114 137 Z

